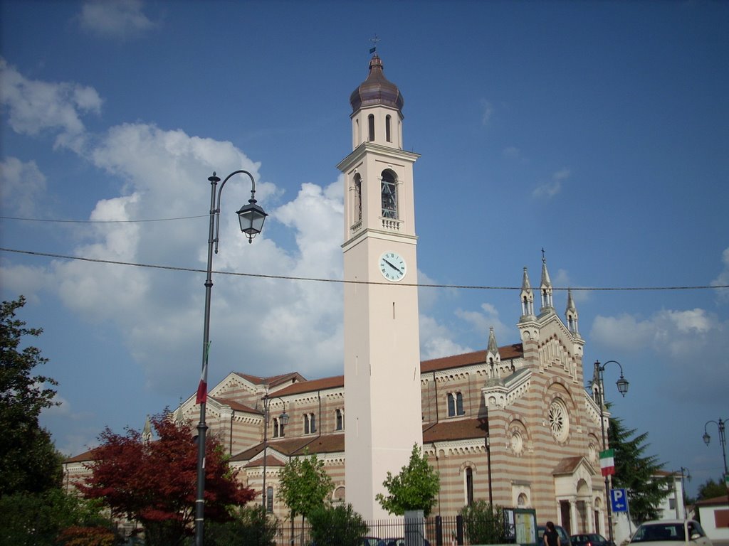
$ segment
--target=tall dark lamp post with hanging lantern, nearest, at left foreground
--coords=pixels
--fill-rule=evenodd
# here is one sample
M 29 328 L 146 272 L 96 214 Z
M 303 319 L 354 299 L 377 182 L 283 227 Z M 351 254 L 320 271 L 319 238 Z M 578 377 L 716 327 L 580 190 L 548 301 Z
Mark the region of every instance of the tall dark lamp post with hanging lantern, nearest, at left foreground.
M 208 398 L 208 352 L 210 349 L 210 296 L 213 288 L 213 250 L 218 253 L 218 232 L 220 226 L 220 195 L 225 183 L 233 175 L 246 174 L 251 179 L 251 199 L 248 205 L 243 205 L 238 210 L 238 220 L 241 223 L 241 231 L 248 237 L 248 242 L 263 229 L 263 222 L 266 214 L 263 209 L 256 205 L 256 181 L 253 175 L 247 170 L 236 170 L 225 177 L 217 189 L 220 178 L 213 173 L 208 178 L 210 181 L 210 232 L 208 235 L 208 269 L 205 280 L 205 323 L 203 325 L 203 371 L 200 374 L 198 385 L 198 396 L 196 402 L 200 404 L 200 422 L 198 423 L 198 497 L 195 501 L 195 546 L 203 546 L 205 533 L 205 433 L 208 426 L 205 423 L 205 406 Z

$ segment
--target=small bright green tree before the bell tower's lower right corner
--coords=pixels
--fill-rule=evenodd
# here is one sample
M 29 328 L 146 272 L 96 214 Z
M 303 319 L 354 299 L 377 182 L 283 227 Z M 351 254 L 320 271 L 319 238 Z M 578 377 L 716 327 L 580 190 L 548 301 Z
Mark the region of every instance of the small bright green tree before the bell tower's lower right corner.
M 408 510 L 423 510 L 427 516 L 437 502 L 440 477 L 416 444 L 408 465 L 402 467 L 397 476 L 387 472 L 387 478 L 382 485 L 387 489 L 388 495 L 378 493 L 375 499 L 388 513 L 403 515 Z

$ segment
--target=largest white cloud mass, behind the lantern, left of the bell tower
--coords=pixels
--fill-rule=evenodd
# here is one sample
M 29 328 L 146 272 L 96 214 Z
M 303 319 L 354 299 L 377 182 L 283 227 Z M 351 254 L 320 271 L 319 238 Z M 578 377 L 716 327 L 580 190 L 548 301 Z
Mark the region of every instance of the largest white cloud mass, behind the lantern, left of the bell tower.
M 77 229 L 77 256 L 204 269 L 211 188 L 207 178 L 215 169 L 231 173 L 242 168 L 257 181 L 256 197 L 270 218 L 249 245 L 235 210 L 248 201 L 251 184 L 245 175 L 230 178 L 221 198 L 219 253 L 213 269 L 342 277 L 341 180 L 324 187 L 302 183 L 295 199 L 273 209 L 270 203 L 281 192 L 261 181 L 259 165 L 231 143 L 141 123 L 112 127 L 83 157 L 123 181 L 121 194 L 98 201 L 90 219 L 122 222 Z M 125 222 L 197 215 L 203 218 Z M 295 249 L 280 248 L 266 237 L 266 227 L 276 222 L 292 230 Z M 18 270 L 17 276 L 21 273 Z M 87 261 L 54 261 L 34 273 L 38 284 L 57 290 L 63 303 L 86 320 L 113 323 L 145 369 L 149 387 L 179 395 L 194 384 L 190 376 L 199 374 L 201 355 L 203 273 Z M 211 374 L 233 369 L 261 375 L 291 370 L 309 376 L 340 373 L 341 290 L 330 282 L 214 274 Z M 222 355 L 241 355 L 241 360 L 222 361 Z

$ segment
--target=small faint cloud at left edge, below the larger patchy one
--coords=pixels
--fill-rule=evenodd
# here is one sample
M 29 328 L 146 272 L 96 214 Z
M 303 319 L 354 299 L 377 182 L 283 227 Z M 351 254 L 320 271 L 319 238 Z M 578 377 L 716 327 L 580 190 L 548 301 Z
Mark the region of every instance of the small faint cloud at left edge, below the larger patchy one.
M 46 178 L 36 162 L 24 163 L 17 157 L 0 162 L 0 197 L 6 210 L 17 216 L 33 217 L 36 202 L 46 191 Z

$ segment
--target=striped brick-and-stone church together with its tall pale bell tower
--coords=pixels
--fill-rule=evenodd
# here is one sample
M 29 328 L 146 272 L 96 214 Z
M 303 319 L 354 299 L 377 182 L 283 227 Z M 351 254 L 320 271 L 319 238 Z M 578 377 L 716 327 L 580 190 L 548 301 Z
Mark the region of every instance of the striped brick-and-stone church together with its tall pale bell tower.
M 403 148 L 404 100 L 377 53 L 350 103 L 352 151 L 338 165 L 346 184 L 344 374 L 230 373 L 208 390 L 209 433 L 258 492 L 256 502 L 281 520 L 288 511 L 278 499 L 278 470 L 290 458 L 316 454 L 335 483 L 332 503 L 350 503 L 365 519 L 386 518 L 375 494 L 417 444 L 440 475 L 434 515 L 456 515 L 484 499 L 534 509 L 538 523 L 554 521 L 570 534 L 607 536 L 600 408 L 584 387 L 591 378 L 572 294 L 561 314 L 542 256 L 538 286 L 526 268 L 515 272 L 516 343 L 499 347 L 492 329 L 482 350 L 421 361 L 413 198 L 419 156 Z M 198 413 L 195 394 L 176 410 L 193 423 Z

